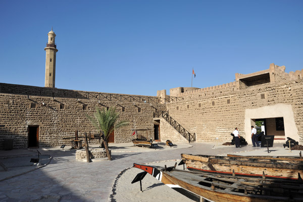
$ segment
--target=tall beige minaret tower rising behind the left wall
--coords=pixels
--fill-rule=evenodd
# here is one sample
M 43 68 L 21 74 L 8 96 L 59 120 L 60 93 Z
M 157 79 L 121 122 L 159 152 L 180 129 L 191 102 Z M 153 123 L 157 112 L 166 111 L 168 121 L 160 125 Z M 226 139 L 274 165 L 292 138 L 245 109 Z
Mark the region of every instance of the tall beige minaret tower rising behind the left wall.
M 52 31 L 48 32 L 48 41 L 44 51 L 46 52 L 45 60 L 45 85 L 44 87 L 55 88 L 55 75 L 56 75 L 56 53 L 58 52 L 55 43 L 56 34 Z

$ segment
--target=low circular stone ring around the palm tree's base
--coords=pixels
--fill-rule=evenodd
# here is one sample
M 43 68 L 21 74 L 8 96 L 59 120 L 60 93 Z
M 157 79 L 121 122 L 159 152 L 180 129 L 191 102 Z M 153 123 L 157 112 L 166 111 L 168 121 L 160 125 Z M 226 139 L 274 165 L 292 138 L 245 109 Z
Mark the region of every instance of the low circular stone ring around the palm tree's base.
M 110 149 L 110 153 L 111 153 L 111 149 Z M 107 158 L 108 158 L 105 148 L 89 149 L 89 156 L 90 156 L 91 161 L 104 161 L 104 160 L 107 160 Z M 86 161 L 85 148 L 76 150 L 76 160 L 77 161 Z

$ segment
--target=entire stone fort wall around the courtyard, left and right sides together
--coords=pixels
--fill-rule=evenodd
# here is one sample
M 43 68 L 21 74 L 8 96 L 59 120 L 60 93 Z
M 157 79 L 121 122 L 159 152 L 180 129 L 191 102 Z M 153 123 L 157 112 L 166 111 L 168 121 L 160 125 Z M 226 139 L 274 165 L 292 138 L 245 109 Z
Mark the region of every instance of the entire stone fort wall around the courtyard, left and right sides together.
M 131 141 L 133 129 L 148 128 L 147 138 L 153 138 L 154 113 L 166 110 L 186 130 L 196 134 L 197 142 L 216 138 L 230 141 L 230 133 L 238 127 L 240 135 L 251 143 L 251 120 L 283 117 L 285 137 L 301 143 L 303 71 L 285 73 L 284 66 L 271 64 L 269 70 L 251 74 L 252 78 L 255 76 L 261 79 L 249 80 L 249 75 L 236 74 L 236 81 L 223 85 L 183 92 L 174 88 L 177 94 L 173 96 L 179 97 L 176 99 L 168 98 L 164 91 L 156 97 L 0 83 L 0 149 L 6 138 L 14 140 L 14 148 L 27 147 L 31 125 L 39 126 L 39 146 L 70 144 L 63 138 L 73 137 L 75 130 L 79 136 L 89 131 L 97 133 L 86 118 L 93 116 L 96 107 L 116 107 L 120 118 L 130 122 L 115 130 L 117 143 Z M 160 120 L 161 140 L 187 141 Z

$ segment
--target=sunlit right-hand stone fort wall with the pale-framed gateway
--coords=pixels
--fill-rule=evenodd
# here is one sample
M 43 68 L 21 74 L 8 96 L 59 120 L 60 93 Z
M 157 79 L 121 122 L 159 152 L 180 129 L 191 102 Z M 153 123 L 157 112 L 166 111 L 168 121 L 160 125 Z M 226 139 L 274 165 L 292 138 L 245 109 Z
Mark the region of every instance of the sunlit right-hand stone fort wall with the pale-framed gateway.
M 264 112 L 265 115 L 262 117 L 254 115 L 250 119 L 284 116 L 284 123 L 288 120 L 292 122 L 293 119 L 294 123 L 290 124 L 288 133 L 285 128 L 285 138 L 289 136 L 302 142 L 303 71 L 285 73 L 284 66 L 272 65 L 271 68 L 274 69 L 271 74 L 274 75 L 274 81 L 262 84 L 254 84 L 254 81 L 251 81 L 251 86 L 243 87 L 240 84 L 241 81 L 237 80 L 228 84 L 174 94 L 173 96 L 184 99 L 168 103 L 167 110 L 170 116 L 189 132 L 196 133 L 197 142 L 215 141 L 216 138 L 219 138 L 220 142 L 230 141 L 232 138 L 230 133 L 238 127 L 240 135 L 251 143 L 251 123 L 245 123 L 248 111 L 262 112 L 264 109 L 262 107 L 266 109 L 273 107 L 270 109 L 278 110 L 269 110 Z M 290 110 L 285 106 L 290 106 Z M 267 114 L 273 115 L 267 116 Z M 285 142 L 285 140 L 280 142 Z

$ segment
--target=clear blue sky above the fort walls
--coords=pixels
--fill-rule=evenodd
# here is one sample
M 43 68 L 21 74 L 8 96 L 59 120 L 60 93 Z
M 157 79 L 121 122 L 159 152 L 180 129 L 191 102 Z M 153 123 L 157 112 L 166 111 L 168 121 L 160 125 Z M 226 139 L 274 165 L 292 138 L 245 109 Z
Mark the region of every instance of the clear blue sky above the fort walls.
M 0 82 L 157 95 L 285 66 L 303 69 L 303 1 L 0 1 Z

